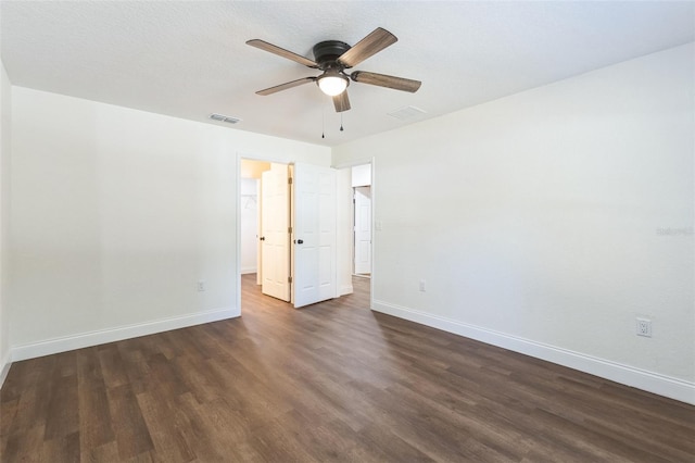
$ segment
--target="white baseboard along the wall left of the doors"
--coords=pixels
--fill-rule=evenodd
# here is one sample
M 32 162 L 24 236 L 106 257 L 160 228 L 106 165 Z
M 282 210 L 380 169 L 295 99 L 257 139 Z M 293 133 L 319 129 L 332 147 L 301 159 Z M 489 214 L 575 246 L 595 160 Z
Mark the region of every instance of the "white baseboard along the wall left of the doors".
M 73 336 L 48 339 L 45 341 L 31 342 L 24 346 L 13 346 L 11 359 L 13 362 L 35 359 L 37 356 L 51 355 L 53 353 L 99 346 L 106 342 L 121 341 L 123 339 L 153 335 L 155 333 L 168 331 L 172 329 L 186 328 L 188 326 L 201 325 L 203 323 L 217 322 L 220 320 L 232 318 L 239 315 L 241 315 L 241 312 L 236 308 L 215 309 L 190 315 L 156 320 L 153 322 L 147 322 L 137 325 L 119 326 L 116 328 L 101 329 L 98 331 L 80 333 Z

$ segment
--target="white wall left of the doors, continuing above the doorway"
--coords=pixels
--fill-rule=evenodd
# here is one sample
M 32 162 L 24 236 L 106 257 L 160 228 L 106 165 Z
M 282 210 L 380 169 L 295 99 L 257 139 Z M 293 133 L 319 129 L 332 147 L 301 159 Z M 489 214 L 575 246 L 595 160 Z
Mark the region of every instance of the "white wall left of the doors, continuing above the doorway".
M 241 153 L 330 164 L 327 148 L 27 88 L 12 111 L 15 360 L 239 315 Z

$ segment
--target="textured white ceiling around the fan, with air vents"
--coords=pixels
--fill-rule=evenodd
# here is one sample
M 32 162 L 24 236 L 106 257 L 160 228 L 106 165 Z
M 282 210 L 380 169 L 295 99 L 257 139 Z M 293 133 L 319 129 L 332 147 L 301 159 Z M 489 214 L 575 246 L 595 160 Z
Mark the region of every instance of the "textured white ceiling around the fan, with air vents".
M 692 1 L 3 0 L 0 14 L 13 85 L 328 146 L 695 40 Z M 377 26 L 399 41 L 355 70 L 421 80 L 417 93 L 352 83 L 344 132 L 312 84 L 254 93 L 318 73 L 247 40 L 313 58 L 318 41 L 354 45 Z M 426 114 L 388 115 L 410 105 Z

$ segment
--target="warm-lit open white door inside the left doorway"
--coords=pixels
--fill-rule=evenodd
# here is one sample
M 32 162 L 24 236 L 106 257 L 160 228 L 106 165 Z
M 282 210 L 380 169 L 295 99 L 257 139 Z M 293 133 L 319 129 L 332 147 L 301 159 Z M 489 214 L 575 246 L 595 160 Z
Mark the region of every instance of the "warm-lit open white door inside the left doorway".
M 271 164 L 261 178 L 262 291 L 290 300 L 290 195 L 288 166 Z

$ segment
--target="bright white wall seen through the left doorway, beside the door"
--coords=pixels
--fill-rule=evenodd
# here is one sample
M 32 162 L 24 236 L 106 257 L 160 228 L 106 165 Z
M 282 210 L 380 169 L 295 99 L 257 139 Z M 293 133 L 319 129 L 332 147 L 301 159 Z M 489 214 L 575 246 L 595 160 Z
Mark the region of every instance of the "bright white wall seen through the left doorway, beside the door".
M 241 273 L 258 270 L 258 184 L 255 178 L 241 178 Z

